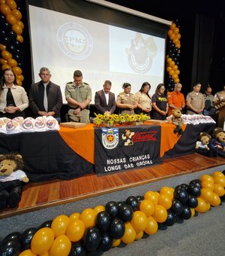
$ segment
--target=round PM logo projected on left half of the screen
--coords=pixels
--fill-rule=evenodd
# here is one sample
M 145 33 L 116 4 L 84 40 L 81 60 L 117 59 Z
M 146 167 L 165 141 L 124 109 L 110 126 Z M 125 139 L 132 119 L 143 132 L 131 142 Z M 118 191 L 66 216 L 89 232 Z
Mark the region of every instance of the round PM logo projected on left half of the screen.
M 65 23 L 57 32 L 58 47 L 71 59 L 86 59 L 92 53 L 92 37 L 77 23 Z

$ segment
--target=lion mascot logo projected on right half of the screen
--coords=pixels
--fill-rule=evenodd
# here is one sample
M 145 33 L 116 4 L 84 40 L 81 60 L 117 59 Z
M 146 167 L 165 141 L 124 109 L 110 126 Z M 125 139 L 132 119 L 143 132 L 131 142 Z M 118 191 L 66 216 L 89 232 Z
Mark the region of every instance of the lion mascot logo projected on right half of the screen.
M 144 74 L 151 69 L 157 48 L 153 37 L 144 39 L 140 33 L 136 33 L 126 51 L 130 68 L 136 73 Z

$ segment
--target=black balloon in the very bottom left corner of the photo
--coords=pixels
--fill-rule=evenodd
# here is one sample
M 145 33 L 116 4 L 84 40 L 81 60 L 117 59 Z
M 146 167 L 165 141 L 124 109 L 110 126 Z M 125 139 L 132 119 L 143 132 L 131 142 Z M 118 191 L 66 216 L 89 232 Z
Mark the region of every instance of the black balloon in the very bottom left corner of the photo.
M 19 255 L 21 251 L 20 242 L 17 240 L 5 240 L 0 246 L 0 255 L 2 256 Z

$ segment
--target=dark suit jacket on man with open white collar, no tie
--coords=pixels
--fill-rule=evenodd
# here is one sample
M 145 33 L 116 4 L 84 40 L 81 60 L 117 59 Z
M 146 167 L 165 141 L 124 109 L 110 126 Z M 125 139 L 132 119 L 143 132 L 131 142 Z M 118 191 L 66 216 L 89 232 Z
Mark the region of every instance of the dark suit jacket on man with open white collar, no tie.
M 104 114 L 105 111 L 110 111 L 113 114 L 116 108 L 115 94 L 110 92 L 109 102 L 107 105 L 107 99 L 104 94 L 104 90 L 99 90 L 95 93 L 95 107 L 100 114 Z

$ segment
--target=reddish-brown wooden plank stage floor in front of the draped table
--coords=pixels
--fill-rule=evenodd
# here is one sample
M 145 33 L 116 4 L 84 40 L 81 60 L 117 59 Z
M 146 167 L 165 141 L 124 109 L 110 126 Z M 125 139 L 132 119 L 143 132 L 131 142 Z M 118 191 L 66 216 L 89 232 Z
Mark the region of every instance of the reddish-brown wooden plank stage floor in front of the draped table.
M 147 166 L 142 169 L 112 172 L 107 175 L 83 175 L 70 181 L 29 182 L 23 189 L 23 197 L 17 209 L 6 209 L 0 212 L 0 218 L 83 200 L 223 164 L 225 164 L 223 157 L 187 154 L 181 157 L 171 157 L 163 160 L 163 163 L 159 165 Z

